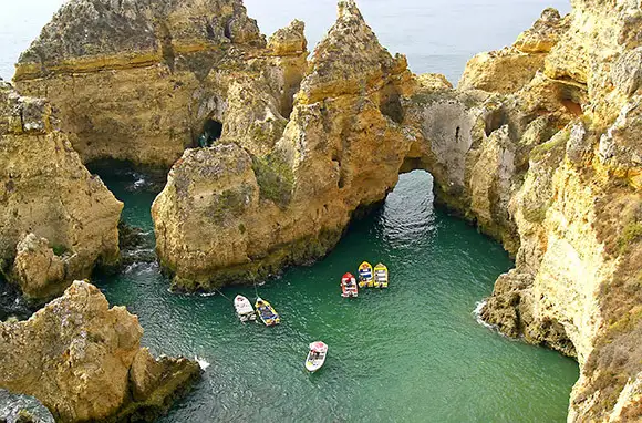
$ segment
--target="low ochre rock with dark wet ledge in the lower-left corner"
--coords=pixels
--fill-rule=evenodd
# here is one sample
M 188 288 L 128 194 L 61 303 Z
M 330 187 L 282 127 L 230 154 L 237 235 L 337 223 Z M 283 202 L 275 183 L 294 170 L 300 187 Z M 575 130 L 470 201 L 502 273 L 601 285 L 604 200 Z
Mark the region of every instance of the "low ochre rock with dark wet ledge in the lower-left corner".
M 0 385 L 35 396 L 61 422 L 149 420 L 200 370 L 154 359 L 142 336 L 135 316 L 76 281 L 28 321 L 0 323 Z

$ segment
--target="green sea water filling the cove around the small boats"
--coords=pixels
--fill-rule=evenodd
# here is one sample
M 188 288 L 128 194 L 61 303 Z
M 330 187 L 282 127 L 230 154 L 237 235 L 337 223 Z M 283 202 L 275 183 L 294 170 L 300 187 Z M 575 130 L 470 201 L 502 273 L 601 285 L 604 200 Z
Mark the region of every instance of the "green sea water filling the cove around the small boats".
M 154 189 L 143 175 L 102 176 L 152 248 Z M 389 266 L 390 288 L 341 298 L 341 276 L 364 259 Z M 154 262 L 95 281 L 138 314 L 153 352 L 210 364 L 163 422 L 562 422 L 577 363 L 506 339 L 474 313 L 510 267 L 500 245 L 435 209 L 431 175 L 413 172 L 325 259 L 256 291 L 174 295 Z M 239 322 L 237 293 L 259 293 L 282 323 Z M 309 374 L 315 340 L 330 350 Z

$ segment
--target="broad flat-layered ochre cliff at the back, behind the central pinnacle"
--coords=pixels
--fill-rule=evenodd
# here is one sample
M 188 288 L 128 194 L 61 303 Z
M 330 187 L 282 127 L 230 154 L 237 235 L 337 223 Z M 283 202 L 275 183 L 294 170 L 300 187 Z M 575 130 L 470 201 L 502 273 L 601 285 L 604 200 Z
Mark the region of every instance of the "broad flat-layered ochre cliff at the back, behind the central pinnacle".
M 269 86 L 278 113 L 265 118 L 279 125 L 303 72 L 302 32 L 297 22 L 266 48 L 240 0 L 73 0 L 22 54 L 14 81 L 48 96 L 83 162 L 169 168 L 187 147 L 218 138 L 217 125 L 230 136 L 265 130 L 226 116 L 251 99 L 235 92 L 244 76 Z

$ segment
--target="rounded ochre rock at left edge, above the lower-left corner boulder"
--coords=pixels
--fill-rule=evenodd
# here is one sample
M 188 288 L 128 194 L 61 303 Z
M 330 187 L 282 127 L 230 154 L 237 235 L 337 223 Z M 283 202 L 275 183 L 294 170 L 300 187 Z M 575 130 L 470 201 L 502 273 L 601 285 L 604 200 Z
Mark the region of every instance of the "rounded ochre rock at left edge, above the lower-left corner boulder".
M 118 260 L 123 205 L 54 123 L 48 102 L 0 82 L 0 268 L 35 301 Z

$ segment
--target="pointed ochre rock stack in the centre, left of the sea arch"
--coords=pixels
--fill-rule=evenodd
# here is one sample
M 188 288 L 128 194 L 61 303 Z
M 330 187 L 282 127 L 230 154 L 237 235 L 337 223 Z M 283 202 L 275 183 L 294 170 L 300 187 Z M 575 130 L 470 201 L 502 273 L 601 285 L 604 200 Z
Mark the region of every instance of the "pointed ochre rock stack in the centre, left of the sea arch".
M 188 151 L 170 172 L 153 216 L 175 287 L 258 280 L 323 256 L 354 210 L 396 183 L 410 147 L 400 96 L 412 86 L 405 58 L 381 47 L 354 2 L 341 2 L 272 141 L 224 135 L 229 145 Z M 267 99 L 253 95 L 241 116 L 260 122 L 275 109 Z

